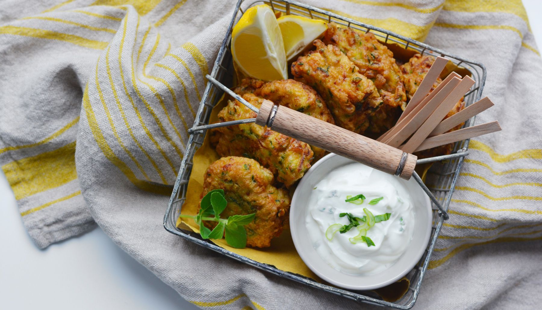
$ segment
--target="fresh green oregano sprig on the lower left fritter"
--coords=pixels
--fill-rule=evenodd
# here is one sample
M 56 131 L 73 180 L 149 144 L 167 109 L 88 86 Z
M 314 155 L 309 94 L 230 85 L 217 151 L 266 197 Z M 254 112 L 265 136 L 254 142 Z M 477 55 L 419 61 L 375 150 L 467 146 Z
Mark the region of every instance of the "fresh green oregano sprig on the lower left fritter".
M 247 246 L 247 230 L 244 229 L 244 225 L 252 222 L 256 213 L 231 215 L 228 219 L 221 219 L 220 214 L 227 205 L 228 201 L 224 196 L 224 190 L 213 189 L 203 196 L 198 215 L 180 215 L 180 217 L 188 217 L 196 221 L 203 239 L 222 239 L 225 231 L 228 245 L 234 248 L 244 248 Z M 203 221 L 215 221 L 218 224 L 211 230 L 205 227 Z

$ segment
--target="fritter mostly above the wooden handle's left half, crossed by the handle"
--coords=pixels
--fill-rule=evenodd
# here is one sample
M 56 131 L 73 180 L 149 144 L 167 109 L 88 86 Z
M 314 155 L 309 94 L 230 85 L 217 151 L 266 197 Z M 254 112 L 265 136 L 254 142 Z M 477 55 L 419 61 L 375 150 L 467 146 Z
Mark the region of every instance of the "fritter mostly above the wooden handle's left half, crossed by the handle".
M 265 83 L 261 88 L 256 89 L 254 94 L 273 101 L 275 104 L 284 105 L 324 122 L 335 124 L 333 116 L 331 116 L 331 112 L 322 97 L 312 87 L 301 82 L 280 80 Z M 326 151 L 321 148 L 311 146 L 311 149 L 314 153 L 314 162 L 326 155 Z

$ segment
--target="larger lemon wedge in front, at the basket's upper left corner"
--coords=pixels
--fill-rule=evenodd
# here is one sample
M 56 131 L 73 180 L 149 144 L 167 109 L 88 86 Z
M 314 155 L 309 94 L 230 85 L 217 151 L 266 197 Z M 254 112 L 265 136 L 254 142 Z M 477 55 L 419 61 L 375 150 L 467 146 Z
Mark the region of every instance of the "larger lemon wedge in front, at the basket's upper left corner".
M 279 24 L 266 4 L 244 12 L 231 33 L 231 54 L 245 74 L 264 81 L 288 78 Z

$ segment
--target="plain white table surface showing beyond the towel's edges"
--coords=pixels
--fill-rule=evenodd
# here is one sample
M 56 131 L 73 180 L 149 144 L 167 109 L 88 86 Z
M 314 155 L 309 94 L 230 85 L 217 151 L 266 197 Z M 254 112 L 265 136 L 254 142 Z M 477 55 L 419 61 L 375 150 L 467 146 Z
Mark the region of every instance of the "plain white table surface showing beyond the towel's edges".
M 542 2 L 523 3 L 540 47 L 542 19 L 537 15 L 542 12 Z M 0 308 L 198 309 L 121 250 L 100 228 L 38 249 L 0 174 Z

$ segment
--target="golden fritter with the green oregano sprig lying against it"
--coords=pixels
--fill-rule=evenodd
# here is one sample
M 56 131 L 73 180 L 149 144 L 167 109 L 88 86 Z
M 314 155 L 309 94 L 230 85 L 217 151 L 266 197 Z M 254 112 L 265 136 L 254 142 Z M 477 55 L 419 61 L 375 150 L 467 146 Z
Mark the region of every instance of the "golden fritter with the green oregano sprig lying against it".
M 254 221 L 245 226 L 247 245 L 269 247 L 271 239 L 282 232 L 288 217 L 290 198 L 288 191 L 273 186 L 273 174 L 252 159 L 222 157 L 207 168 L 203 180 L 202 196 L 213 189 L 223 189 L 227 207 L 221 217 L 256 213 Z M 205 222 L 214 228 L 216 222 Z

